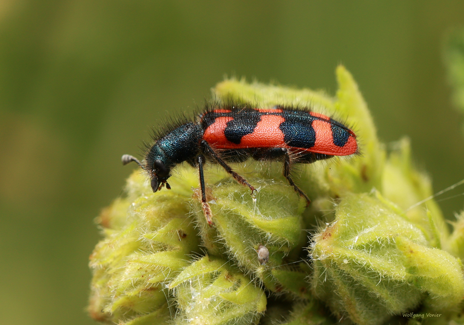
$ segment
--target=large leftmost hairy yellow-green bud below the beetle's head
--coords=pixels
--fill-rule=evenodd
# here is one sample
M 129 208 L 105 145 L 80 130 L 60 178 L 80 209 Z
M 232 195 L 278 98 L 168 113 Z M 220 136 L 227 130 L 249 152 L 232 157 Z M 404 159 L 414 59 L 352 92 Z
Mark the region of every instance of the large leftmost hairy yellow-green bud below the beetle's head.
M 199 251 L 189 217 L 188 182 L 176 182 L 176 190 L 161 193 L 152 193 L 146 183 L 135 172 L 128 181 L 128 198 L 116 200 L 99 218 L 106 220 L 102 226 L 112 228 L 103 228 L 105 238 L 90 256 L 89 311 L 98 320 L 139 324 L 141 316 L 158 315 L 166 309 L 165 282 Z

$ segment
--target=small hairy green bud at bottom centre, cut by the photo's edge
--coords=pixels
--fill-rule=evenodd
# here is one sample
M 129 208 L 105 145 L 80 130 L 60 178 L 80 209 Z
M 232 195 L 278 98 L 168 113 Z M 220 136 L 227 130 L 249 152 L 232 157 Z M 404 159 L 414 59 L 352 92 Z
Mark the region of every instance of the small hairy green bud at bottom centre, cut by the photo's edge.
M 171 281 L 180 314 L 176 324 L 257 324 L 266 310 L 264 291 L 224 259 L 205 256 Z

